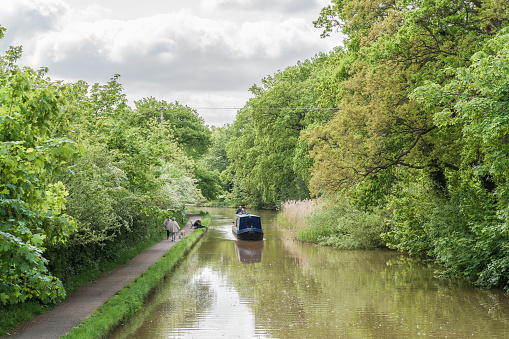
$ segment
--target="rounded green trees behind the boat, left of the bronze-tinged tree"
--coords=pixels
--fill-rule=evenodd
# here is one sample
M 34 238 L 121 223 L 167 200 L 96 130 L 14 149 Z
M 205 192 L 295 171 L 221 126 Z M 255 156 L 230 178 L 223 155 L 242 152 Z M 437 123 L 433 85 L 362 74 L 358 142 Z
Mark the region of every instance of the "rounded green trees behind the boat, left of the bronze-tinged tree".
M 255 97 L 238 113 L 226 147 L 230 166 L 223 173 L 233 176 L 236 203 L 262 207 L 309 197 L 312 160 L 308 144 L 299 138 L 308 126 L 332 116 L 329 107 L 320 107 L 331 104 L 320 88 L 331 76 L 332 54 L 299 62 L 264 78 L 263 87 L 251 87 Z

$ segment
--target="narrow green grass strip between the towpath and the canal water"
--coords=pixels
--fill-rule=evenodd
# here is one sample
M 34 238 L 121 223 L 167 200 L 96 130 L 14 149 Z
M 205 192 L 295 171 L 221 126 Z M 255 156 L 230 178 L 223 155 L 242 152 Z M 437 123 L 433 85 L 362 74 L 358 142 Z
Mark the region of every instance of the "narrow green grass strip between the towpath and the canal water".
M 150 292 L 171 273 L 205 232 L 206 228 L 196 229 L 176 243 L 157 263 L 62 338 L 105 338 L 117 326 L 141 309 Z

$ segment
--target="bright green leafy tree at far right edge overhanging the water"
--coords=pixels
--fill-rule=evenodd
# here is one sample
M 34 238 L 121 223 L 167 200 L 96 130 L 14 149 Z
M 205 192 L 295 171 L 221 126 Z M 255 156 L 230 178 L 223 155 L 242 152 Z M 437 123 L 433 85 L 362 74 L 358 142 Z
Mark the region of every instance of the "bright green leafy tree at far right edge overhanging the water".
M 434 237 L 444 275 L 468 276 L 485 286 L 509 286 L 505 224 L 508 214 L 509 34 L 507 29 L 459 68 L 445 85 L 429 82 L 413 96 L 434 112 L 437 125 L 458 126 L 461 170 L 454 196 L 462 220 L 454 233 Z M 475 207 L 473 207 L 475 206 Z M 468 210 L 468 212 L 466 212 Z M 450 213 L 452 214 L 452 213 Z

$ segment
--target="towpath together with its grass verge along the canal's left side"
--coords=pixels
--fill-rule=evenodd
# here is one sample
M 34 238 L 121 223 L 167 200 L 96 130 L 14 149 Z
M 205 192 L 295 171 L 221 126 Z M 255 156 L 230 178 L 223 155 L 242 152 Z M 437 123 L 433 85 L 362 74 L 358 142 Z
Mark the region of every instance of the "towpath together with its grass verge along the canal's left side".
M 199 215 L 189 215 L 183 227 L 187 236 L 183 239 L 158 242 L 129 263 L 80 288 L 53 310 L 21 325 L 10 338 L 60 338 L 71 329 L 67 338 L 107 335 L 141 307 L 150 291 L 203 235 L 205 229 L 191 229 L 198 218 Z

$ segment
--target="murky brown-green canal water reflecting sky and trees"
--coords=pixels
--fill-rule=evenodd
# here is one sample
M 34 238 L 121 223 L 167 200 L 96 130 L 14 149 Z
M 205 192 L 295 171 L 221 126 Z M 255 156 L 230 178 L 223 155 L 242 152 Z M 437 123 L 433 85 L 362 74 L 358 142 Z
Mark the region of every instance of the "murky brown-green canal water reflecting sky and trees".
M 110 338 L 509 338 L 509 297 L 443 281 L 393 251 L 302 244 L 261 216 L 237 242 L 233 209 L 207 208 L 202 240 Z

